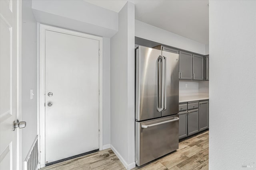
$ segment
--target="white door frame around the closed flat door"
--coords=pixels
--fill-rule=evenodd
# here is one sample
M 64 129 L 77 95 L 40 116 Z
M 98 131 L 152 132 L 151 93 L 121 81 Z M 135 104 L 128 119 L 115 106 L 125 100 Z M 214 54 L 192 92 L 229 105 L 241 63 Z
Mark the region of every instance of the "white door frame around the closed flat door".
M 38 135 L 39 135 L 39 146 L 40 146 L 40 168 L 45 166 L 45 31 L 55 31 L 59 33 L 65 33 L 69 35 L 85 37 L 90 39 L 95 39 L 99 41 L 99 150 L 102 150 L 103 147 L 103 134 L 102 134 L 102 53 L 103 53 L 103 38 L 95 35 L 90 35 L 86 33 L 81 33 L 78 31 L 72 31 L 68 29 L 63 29 L 60 27 L 54 27 L 50 25 L 45 25 L 38 23 L 38 82 L 37 88 L 38 91 Z

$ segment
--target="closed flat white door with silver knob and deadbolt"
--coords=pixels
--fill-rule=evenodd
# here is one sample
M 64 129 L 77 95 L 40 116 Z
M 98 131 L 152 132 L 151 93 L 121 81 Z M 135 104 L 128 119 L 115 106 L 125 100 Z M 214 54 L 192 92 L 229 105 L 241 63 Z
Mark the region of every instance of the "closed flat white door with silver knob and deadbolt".
M 99 41 L 45 31 L 45 163 L 99 149 Z

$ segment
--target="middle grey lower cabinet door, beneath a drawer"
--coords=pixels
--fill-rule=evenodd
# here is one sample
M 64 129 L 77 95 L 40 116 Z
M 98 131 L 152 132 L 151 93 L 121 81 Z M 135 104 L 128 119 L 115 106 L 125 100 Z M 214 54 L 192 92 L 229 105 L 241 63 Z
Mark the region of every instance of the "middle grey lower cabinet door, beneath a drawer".
M 188 136 L 198 133 L 198 109 L 188 111 Z

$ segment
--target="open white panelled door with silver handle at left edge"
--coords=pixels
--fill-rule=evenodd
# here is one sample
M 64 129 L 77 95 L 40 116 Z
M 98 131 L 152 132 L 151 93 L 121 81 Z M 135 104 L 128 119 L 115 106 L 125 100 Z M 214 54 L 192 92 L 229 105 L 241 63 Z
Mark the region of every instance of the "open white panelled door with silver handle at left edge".
M 0 0 L 0 170 L 19 168 L 18 109 L 19 2 Z

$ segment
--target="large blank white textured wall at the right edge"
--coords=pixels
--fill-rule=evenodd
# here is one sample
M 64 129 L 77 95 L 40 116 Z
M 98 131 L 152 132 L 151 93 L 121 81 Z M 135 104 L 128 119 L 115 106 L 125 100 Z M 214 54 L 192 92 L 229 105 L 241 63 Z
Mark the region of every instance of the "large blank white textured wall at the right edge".
M 211 0 L 209 8 L 209 169 L 255 168 L 256 1 Z

